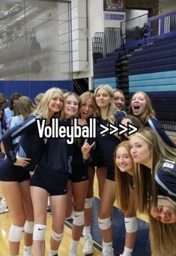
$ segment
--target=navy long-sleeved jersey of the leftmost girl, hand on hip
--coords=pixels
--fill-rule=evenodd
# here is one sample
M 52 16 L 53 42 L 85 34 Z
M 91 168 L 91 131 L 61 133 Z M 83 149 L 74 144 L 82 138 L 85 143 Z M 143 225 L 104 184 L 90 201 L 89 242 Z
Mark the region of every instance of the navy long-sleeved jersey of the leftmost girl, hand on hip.
M 16 152 L 19 156 L 31 158 L 26 170 L 34 170 L 45 144 L 44 138 L 39 138 L 36 119 L 39 116 L 29 116 L 25 122 L 6 131 L 1 138 L 9 161 L 13 164 L 16 161 Z M 21 136 L 16 149 L 13 148 L 13 139 Z

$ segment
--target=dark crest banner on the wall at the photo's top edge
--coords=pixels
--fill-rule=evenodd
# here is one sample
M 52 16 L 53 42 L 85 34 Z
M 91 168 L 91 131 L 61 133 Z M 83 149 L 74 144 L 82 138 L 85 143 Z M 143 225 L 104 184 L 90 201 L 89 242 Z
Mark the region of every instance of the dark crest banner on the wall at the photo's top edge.
M 125 11 L 125 0 L 103 0 L 104 11 Z

